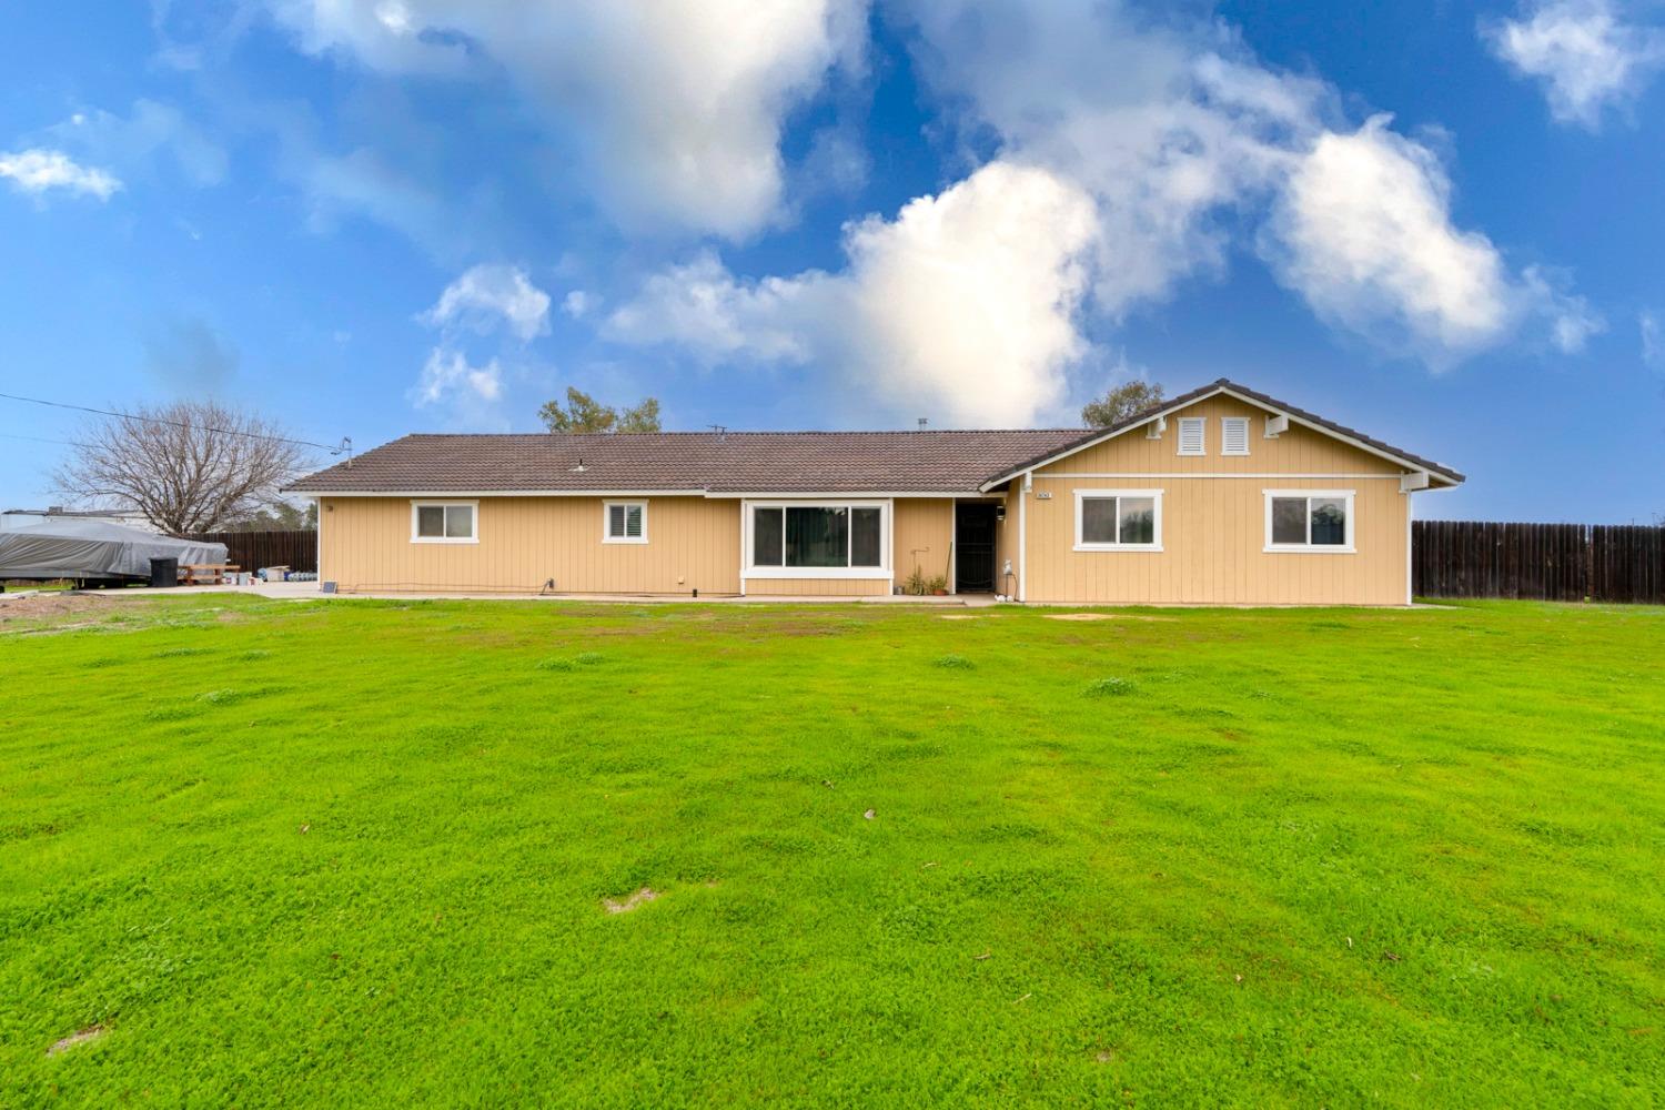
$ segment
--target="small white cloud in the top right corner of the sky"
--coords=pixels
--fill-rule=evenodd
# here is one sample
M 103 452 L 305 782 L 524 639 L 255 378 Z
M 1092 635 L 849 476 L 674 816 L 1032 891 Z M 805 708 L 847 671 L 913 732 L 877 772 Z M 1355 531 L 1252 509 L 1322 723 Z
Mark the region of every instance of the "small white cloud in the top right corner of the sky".
M 1665 65 L 1665 32 L 1627 23 L 1610 0 L 1548 0 L 1528 18 L 1482 22 L 1480 35 L 1510 68 L 1543 85 L 1550 115 L 1592 130 Z

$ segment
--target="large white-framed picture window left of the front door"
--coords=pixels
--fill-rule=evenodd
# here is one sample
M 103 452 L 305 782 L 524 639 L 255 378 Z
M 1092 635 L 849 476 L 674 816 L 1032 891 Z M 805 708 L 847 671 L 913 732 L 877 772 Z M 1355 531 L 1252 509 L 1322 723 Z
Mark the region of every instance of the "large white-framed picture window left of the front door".
M 882 501 L 744 504 L 746 577 L 889 577 Z

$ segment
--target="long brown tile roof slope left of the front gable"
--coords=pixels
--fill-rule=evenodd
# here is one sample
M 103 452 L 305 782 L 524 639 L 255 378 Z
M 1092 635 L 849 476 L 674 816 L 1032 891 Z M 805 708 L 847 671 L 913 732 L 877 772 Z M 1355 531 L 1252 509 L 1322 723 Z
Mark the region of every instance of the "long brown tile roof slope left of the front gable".
M 293 493 L 976 493 L 996 471 L 1076 443 L 1019 431 L 416 434 L 296 481 Z M 578 469 L 579 459 L 583 469 Z

